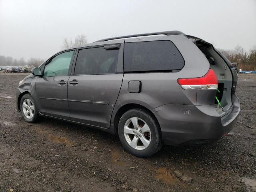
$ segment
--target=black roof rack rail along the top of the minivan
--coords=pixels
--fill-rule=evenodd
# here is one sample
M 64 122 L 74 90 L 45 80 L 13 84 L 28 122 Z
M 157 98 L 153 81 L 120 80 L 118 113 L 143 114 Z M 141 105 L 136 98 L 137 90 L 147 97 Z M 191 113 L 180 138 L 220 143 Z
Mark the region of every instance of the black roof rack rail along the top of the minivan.
M 114 39 L 123 39 L 123 38 L 130 38 L 130 37 L 139 37 L 139 36 L 150 36 L 150 35 L 184 35 L 181 31 L 164 31 L 164 32 L 155 32 L 155 33 L 142 33 L 142 34 L 136 34 L 136 35 L 127 35 L 127 36 L 120 36 L 120 37 L 112 37 L 112 38 L 106 38 L 101 39 L 95 42 L 102 42 L 102 41 L 108 41 L 108 40 L 114 40 Z

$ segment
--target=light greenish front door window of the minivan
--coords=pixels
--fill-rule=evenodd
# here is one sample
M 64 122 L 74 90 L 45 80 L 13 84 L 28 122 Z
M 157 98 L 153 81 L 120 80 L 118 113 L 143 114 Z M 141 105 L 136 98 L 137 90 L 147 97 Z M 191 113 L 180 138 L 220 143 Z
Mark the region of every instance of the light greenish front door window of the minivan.
M 44 77 L 66 76 L 74 51 L 64 52 L 52 58 L 44 68 Z

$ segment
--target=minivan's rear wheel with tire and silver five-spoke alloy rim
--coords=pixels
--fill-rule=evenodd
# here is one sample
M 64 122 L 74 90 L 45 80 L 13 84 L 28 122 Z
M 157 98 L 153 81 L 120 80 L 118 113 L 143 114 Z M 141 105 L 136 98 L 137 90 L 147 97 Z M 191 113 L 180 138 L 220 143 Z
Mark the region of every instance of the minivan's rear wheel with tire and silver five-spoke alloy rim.
M 138 157 L 148 157 L 162 147 L 160 126 L 144 109 L 131 109 L 119 120 L 118 135 L 124 148 Z

